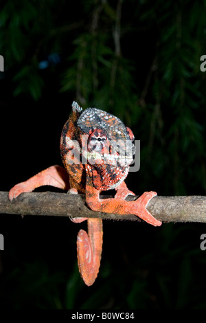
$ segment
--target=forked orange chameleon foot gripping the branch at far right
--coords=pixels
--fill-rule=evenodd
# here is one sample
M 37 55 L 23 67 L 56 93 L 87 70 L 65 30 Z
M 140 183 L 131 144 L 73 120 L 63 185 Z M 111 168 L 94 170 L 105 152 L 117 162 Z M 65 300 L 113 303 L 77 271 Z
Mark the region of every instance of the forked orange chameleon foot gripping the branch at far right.
M 154 225 L 155 227 L 161 225 L 161 221 L 150 214 L 146 209 L 150 200 L 157 195 L 156 192 L 144 192 L 136 201 L 132 202 L 130 213 L 139 216 L 140 219 Z

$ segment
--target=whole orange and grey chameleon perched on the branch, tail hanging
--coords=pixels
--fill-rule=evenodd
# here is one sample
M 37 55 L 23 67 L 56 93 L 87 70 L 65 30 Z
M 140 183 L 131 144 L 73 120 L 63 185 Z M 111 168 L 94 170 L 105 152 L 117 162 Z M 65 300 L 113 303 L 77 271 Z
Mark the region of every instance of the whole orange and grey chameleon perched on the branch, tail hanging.
M 82 111 L 73 102 L 72 110 L 60 137 L 60 154 L 65 168 L 51 166 L 27 181 L 16 184 L 9 192 L 10 201 L 22 192 L 52 185 L 69 190 L 70 194 L 86 194 L 86 203 L 91 210 L 135 214 L 152 225 L 161 225 L 146 210 L 150 199 L 157 195 L 156 192 L 144 192 L 135 201 L 125 201 L 128 194 L 135 195 L 124 182 L 135 154 L 133 132 L 119 118 L 100 109 Z M 118 145 L 111 144 L 116 142 Z M 130 154 L 125 154 L 124 142 L 128 143 Z M 116 190 L 114 198 L 100 199 L 101 191 L 111 189 Z M 88 234 L 80 230 L 77 238 L 78 267 L 85 284 L 91 286 L 100 268 L 103 231 L 101 219 L 72 219 L 75 223 L 85 220 L 88 223 Z

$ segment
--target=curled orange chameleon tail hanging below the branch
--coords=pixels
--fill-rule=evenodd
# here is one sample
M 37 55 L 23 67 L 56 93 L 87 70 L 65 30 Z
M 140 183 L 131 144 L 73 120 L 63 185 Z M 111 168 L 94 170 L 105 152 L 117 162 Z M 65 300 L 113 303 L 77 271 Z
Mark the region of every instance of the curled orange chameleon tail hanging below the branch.
M 78 266 L 87 286 L 93 285 L 98 276 L 102 254 L 102 220 L 88 219 L 88 234 L 80 230 L 77 238 Z

